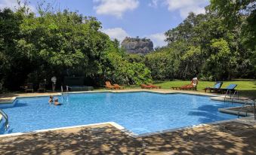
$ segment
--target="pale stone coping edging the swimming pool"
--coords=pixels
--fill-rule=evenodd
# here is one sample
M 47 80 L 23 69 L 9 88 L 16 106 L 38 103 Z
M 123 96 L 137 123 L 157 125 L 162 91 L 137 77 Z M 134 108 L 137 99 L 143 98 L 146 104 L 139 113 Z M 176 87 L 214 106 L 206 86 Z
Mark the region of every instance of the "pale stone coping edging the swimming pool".
M 69 93 L 55 93 L 57 96 L 62 96 L 63 94 L 83 94 L 83 93 L 140 93 L 140 92 L 146 92 L 146 93 L 160 93 L 160 94 L 175 94 L 175 93 L 180 93 L 180 94 L 189 94 L 189 95 L 196 95 L 196 96 L 209 96 L 210 99 L 212 100 L 216 100 L 216 101 L 221 101 L 224 102 L 224 99 L 221 98 L 221 95 L 215 95 L 215 94 L 208 94 L 208 93 L 195 93 L 195 92 L 181 92 L 181 91 L 172 91 L 172 92 L 161 92 L 161 91 L 152 91 L 152 90 L 125 90 L 125 91 L 119 91 L 119 90 L 97 90 L 97 91 L 80 91 L 80 92 L 69 92 Z M 55 96 L 56 96 L 55 95 Z M 13 97 L 12 102 L 9 103 L 1 103 L 0 105 L 11 105 L 13 106 L 16 99 L 22 99 L 22 98 L 34 98 L 34 97 L 45 97 L 45 96 L 49 96 L 49 95 L 40 95 L 40 96 L 16 96 Z M 231 100 L 230 100 L 231 101 Z M 229 102 L 229 100 L 227 99 L 227 102 Z M 236 100 L 233 100 L 233 102 L 236 102 Z M 244 101 L 245 102 L 245 101 Z M 237 102 L 237 103 L 244 103 L 244 102 Z M 224 108 L 223 108 L 224 109 Z M 227 114 L 234 114 L 233 111 L 224 109 L 221 112 L 227 113 Z M 242 114 L 242 113 L 241 113 Z M 251 117 L 251 116 L 250 116 Z M 61 129 L 72 129 L 72 128 L 78 128 L 78 127 L 88 127 L 88 126 L 97 126 L 97 125 L 111 125 L 116 127 L 116 129 L 119 129 L 122 132 L 125 132 L 125 134 L 130 135 L 131 137 L 143 137 L 143 136 L 147 136 L 147 135 L 157 135 L 157 134 L 162 134 L 165 132 L 174 132 L 174 131 L 178 131 L 181 129 L 191 129 L 194 127 L 199 127 L 199 126 L 208 126 L 211 124 L 217 124 L 217 123 L 227 123 L 227 122 L 232 122 L 235 121 L 237 119 L 232 119 L 232 120 L 221 120 L 221 121 L 216 121 L 216 122 L 211 122 L 211 123 L 201 123 L 201 124 L 197 124 L 194 126 L 186 126 L 186 127 L 180 127 L 180 128 L 174 128 L 174 129 L 165 129 L 162 131 L 157 131 L 157 132 L 149 132 L 149 133 L 144 133 L 144 134 L 135 134 L 134 132 L 131 132 L 128 129 L 125 129 L 125 127 L 119 125 L 118 123 L 115 122 L 104 122 L 104 123 L 92 123 L 92 124 L 85 124 L 85 125 L 81 125 L 81 126 L 66 126 L 66 127 L 60 127 L 60 128 L 53 128 L 53 129 L 41 129 L 41 130 L 35 130 L 32 132 L 16 132 L 16 133 L 10 133 L 10 134 L 5 134 L 5 135 L 0 135 L 0 138 L 2 137 L 6 137 L 6 136 L 15 136 L 15 135 L 24 135 L 24 134 L 31 134 L 31 133 L 37 133 L 37 132 L 48 132 L 48 131 L 54 131 L 54 130 L 61 130 Z M 2 122 L 2 118 L 0 119 L 0 123 Z

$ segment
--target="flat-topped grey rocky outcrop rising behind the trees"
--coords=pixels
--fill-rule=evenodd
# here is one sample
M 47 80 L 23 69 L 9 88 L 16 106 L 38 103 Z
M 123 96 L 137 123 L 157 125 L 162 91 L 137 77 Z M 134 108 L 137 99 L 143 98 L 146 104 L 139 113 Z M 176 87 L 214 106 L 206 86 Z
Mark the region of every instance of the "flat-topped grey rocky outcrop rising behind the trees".
M 122 47 L 128 53 L 147 54 L 153 51 L 153 42 L 148 38 L 128 38 L 122 41 Z

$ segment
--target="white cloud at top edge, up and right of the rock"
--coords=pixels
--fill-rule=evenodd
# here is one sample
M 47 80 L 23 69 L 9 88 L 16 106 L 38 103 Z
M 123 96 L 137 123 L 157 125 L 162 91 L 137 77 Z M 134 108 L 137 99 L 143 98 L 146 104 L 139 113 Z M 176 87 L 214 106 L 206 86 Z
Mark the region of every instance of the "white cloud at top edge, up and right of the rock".
M 186 18 L 190 12 L 204 14 L 205 6 L 209 0 L 151 0 L 150 6 L 157 6 L 159 3 L 167 5 L 168 11 L 179 11 L 180 17 Z

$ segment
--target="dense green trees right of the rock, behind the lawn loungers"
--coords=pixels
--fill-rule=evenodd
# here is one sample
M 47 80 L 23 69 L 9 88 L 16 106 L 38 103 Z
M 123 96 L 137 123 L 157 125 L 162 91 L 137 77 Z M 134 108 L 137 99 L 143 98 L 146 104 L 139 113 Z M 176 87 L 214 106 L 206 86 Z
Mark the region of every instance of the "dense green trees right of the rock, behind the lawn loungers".
M 227 6 L 224 2 L 230 1 L 213 0 L 212 6 L 206 8 L 206 14 L 190 13 L 183 23 L 165 32 L 168 46 L 157 49 L 145 58 L 153 79 L 189 80 L 198 76 L 200 80 L 222 81 L 255 78 L 256 28 L 248 31 L 253 26 L 250 22 L 256 21 L 252 17 L 255 8 L 250 8 L 251 14 L 248 16 L 240 14 L 243 20 L 229 26 L 225 19 L 230 16 L 223 16 L 226 8 L 223 8 L 224 11 L 218 8 Z

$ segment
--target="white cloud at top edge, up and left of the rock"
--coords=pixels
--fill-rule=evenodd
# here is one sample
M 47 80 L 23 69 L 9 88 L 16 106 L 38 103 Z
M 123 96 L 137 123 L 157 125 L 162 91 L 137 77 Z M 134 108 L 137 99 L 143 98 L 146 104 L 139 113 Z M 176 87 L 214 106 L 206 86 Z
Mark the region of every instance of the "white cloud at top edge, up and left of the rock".
M 121 18 L 125 11 L 132 11 L 139 6 L 138 0 L 94 0 L 97 14 L 112 15 Z

